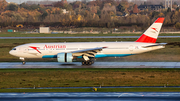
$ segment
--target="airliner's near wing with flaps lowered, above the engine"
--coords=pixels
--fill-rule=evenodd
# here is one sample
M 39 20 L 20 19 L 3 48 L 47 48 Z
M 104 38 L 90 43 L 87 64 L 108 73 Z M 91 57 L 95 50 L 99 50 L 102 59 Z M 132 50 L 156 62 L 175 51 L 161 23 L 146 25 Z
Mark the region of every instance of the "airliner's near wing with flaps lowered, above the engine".
M 87 57 L 95 57 L 95 55 L 102 51 L 102 49 L 107 47 L 97 47 L 97 48 L 90 48 L 90 49 L 84 49 L 84 50 L 77 50 L 72 51 L 71 53 L 73 56 L 87 56 Z

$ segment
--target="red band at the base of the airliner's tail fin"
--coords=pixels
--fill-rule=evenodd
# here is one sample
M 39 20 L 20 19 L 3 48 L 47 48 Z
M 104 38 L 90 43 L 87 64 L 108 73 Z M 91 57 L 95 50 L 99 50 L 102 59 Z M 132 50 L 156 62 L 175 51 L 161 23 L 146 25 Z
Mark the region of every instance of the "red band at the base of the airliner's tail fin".
M 156 40 L 157 39 L 143 34 L 136 42 L 156 43 Z

